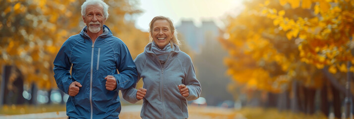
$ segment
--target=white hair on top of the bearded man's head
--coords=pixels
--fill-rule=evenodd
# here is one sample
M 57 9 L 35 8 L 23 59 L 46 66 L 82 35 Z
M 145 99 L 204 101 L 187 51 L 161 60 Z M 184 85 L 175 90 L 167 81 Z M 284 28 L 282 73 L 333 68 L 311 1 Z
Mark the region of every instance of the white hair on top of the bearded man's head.
M 86 15 L 86 7 L 88 5 L 100 5 L 103 8 L 103 16 L 107 19 L 108 18 L 108 5 L 103 1 L 103 0 L 86 0 L 82 5 L 81 5 L 81 15 L 85 16 Z

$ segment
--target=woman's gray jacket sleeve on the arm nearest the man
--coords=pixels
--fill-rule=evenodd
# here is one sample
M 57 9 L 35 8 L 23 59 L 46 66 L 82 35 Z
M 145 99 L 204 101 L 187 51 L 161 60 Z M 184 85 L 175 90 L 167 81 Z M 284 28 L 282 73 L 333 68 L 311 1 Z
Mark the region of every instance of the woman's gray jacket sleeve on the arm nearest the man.
M 138 74 L 136 83 L 139 82 L 139 80 L 140 80 L 140 74 L 141 74 L 141 70 L 142 70 L 142 68 L 141 68 L 142 67 L 142 65 L 141 65 L 142 60 L 139 60 L 139 59 L 140 59 L 139 56 L 137 56 L 136 59 L 134 60 L 134 62 L 136 64 L 137 74 Z M 133 103 L 133 104 L 139 101 L 138 99 L 136 99 L 136 92 L 138 91 L 137 89 L 135 89 L 136 83 L 128 89 L 121 90 L 121 93 L 123 95 L 123 99 L 128 101 L 129 103 Z

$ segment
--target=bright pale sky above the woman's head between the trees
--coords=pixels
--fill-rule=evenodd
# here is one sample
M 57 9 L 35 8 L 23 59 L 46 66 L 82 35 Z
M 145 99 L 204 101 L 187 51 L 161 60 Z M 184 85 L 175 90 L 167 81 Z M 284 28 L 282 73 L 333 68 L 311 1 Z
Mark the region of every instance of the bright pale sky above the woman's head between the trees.
M 222 18 L 236 16 L 243 0 L 140 0 L 143 13 L 136 17 L 135 27 L 147 31 L 149 22 L 155 16 L 167 16 L 178 26 L 181 20 L 192 20 L 196 26 L 203 20 L 213 20 L 220 28 L 225 24 Z

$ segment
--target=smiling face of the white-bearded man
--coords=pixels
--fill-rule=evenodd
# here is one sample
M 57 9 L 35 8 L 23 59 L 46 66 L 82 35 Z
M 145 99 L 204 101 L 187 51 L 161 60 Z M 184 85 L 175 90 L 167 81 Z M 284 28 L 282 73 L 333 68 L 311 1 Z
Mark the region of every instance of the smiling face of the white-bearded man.
M 101 5 L 88 5 L 86 7 L 86 14 L 82 18 L 88 28 L 88 32 L 91 33 L 102 31 L 103 24 L 106 22 Z

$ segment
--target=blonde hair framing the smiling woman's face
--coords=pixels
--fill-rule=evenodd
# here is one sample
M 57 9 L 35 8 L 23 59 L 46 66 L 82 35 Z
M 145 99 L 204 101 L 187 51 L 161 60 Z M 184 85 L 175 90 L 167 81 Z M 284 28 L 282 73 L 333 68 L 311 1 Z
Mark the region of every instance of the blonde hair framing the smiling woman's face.
M 170 24 L 170 28 L 171 28 L 171 32 L 174 31 L 174 35 L 172 36 L 172 39 L 170 40 L 170 44 L 171 44 L 171 48 L 173 48 L 173 43 L 175 43 L 177 46 L 180 45 L 180 41 L 177 39 L 177 30 L 175 29 L 175 26 L 174 24 L 172 23 L 172 20 L 169 18 L 169 17 L 165 17 L 165 16 L 155 16 L 151 22 L 149 23 L 149 34 L 150 34 L 150 43 L 153 42 L 153 34 L 152 34 L 152 30 L 153 30 L 153 27 L 154 27 L 154 23 L 155 21 L 157 20 L 166 20 L 167 22 L 169 22 Z

